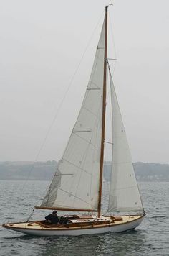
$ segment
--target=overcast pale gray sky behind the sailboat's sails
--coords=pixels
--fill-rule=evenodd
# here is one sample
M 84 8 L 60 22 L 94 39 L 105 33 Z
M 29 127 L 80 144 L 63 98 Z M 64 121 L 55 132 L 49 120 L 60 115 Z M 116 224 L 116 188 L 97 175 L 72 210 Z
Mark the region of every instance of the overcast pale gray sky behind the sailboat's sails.
M 59 160 L 82 103 L 108 3 L 0 1 L 0 161 L 35 159 L 95 31 L 38 157 Z M 109 57 L 117 57 L 113 78 L 132 160 L 169 163 L 169 1 L 113 3 L 115 45 L 110 33 Z

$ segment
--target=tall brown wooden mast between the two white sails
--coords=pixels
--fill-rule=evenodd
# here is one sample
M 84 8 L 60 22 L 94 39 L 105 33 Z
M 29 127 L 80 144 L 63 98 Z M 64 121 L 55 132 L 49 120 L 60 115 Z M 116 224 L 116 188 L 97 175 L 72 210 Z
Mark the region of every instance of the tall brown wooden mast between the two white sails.
M 98 217 L 101 215 L 102 201 L 102 173 L 104 162 L 104 142 L 105 142 L 105 109 L 106 109 L 106 77 L 107 77 L 107 9 L 105 6 L 105 58 L 104 58 L 104 76 L 103 76 L 103 93 L 102 93 L 102 140 L 100 154 L 100 185 L 99 185 L 99 200 L 98 200 Z

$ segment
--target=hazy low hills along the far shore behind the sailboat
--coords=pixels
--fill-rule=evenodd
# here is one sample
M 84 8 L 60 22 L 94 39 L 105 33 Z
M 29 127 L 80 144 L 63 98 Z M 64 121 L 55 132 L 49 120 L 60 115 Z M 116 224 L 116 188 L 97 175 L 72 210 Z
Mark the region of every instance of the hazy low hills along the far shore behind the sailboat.
M 0 180 L 50 180 L 57 168 L 56 161 L 1 162 Z M 139 181 L 169 181 L 169 165 L 159 163 L 134 163 Z M 110 180 L 111 163 L 104 164 L 104 179 Z

